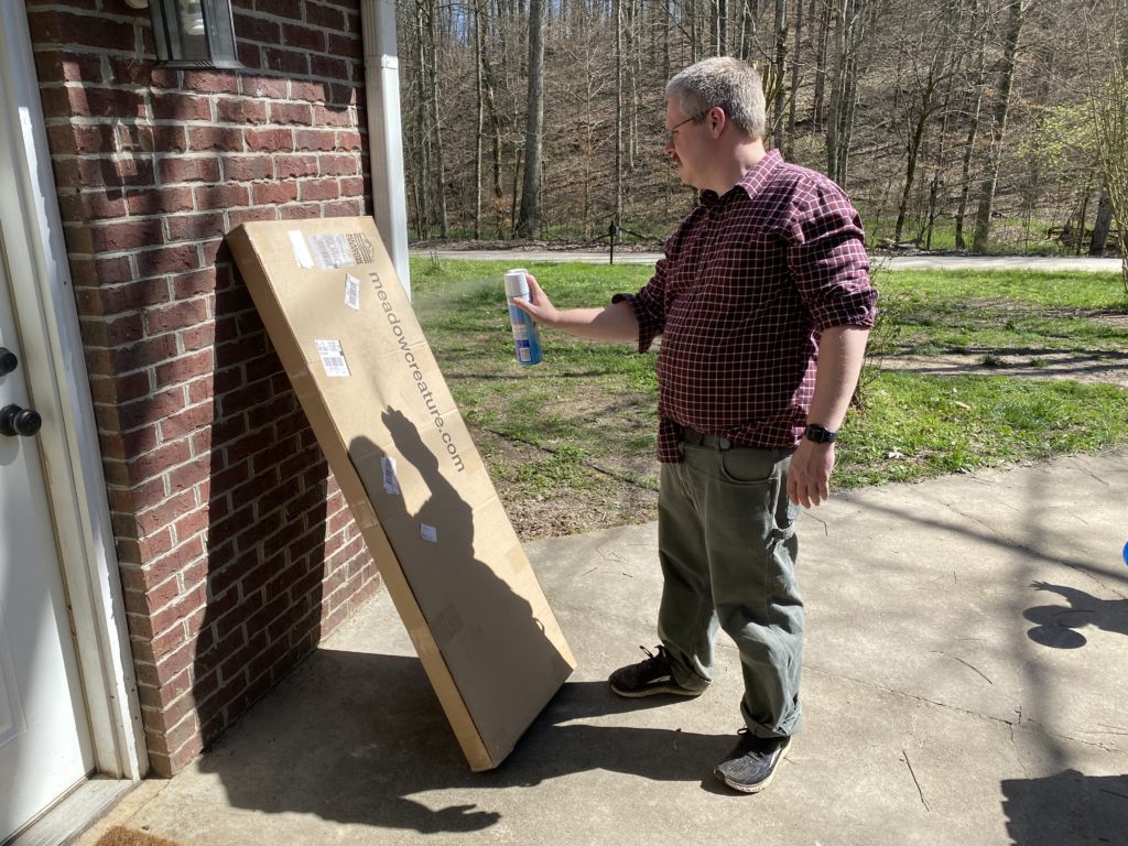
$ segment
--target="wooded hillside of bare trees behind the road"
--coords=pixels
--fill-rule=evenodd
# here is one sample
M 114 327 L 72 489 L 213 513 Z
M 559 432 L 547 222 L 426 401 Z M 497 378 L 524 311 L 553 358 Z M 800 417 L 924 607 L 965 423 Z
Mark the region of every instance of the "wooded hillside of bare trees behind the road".
M 661 237 L 666 80 L 761 69 L 772 147 L 871 244 L 1122 246 L 1128 0 L 399 0 L 415 240 Z M 1119 174 L 1119 176 L 1118 176 Z

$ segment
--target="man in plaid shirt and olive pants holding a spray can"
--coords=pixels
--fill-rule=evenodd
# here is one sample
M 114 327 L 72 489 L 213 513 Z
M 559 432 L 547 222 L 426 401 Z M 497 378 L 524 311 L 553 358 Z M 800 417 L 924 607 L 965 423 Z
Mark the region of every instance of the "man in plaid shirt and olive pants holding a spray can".
M 706 59 L 666 89 L 666 155 L 700 204 L 654 276 L 606 308 L 558 310 L 530 279 L 526 310 L 658 354 L 662 645 L 610 677 L 620 696 L 697 696 L 719 627 L 743 670 L 744 728 L 715 769 L 767 786 L 799 729 L 799 506 L 829 495 L 835 437 L 857 384 L 876 292 L 841 190 L 764 147 L 759 76 Z

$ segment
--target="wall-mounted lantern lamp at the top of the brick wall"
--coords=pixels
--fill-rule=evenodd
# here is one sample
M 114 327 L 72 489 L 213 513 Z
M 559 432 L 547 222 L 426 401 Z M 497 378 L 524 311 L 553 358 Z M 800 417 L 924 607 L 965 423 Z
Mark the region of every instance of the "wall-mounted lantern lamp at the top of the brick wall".
M 165 68 L 243 68 L 235 50 L 231 0 L 125 0 L 149 7 L 157 63 Z

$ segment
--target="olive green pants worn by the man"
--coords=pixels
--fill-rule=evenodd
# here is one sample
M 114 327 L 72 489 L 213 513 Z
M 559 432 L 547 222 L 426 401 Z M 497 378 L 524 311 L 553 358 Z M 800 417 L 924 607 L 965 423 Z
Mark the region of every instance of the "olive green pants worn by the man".
M 678 684 L 713 678 L 717 628 L 737 644 L 741 713 L 758 737 L 799 730 L 803 600 L 795 581 L 799 506 L 787 500 L 790 450 L 681 444 L 663 464 L 658 633 Z

